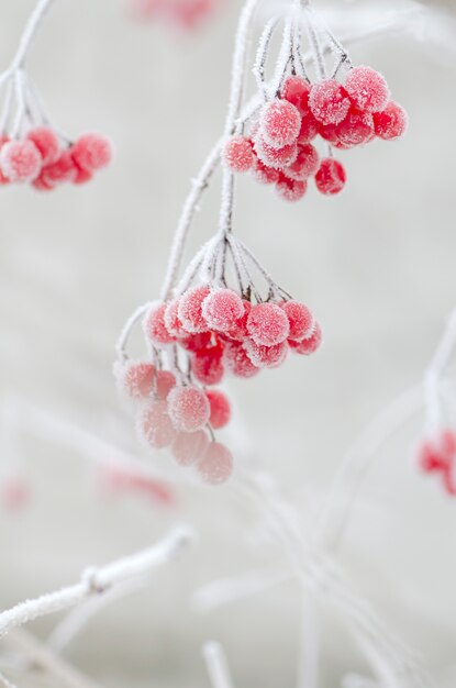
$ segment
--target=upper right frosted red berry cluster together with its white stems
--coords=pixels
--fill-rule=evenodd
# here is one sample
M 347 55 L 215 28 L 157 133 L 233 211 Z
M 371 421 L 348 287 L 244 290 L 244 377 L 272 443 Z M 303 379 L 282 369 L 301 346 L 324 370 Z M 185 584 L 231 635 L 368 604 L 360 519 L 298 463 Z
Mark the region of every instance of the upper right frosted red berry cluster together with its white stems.
M 309 36 L 310 70 L 301 56 L 302 19 Z M 274 185 L 288 201 L 301 199 L 311 178 L 321 193 L 333 196 L 346 182 L 345 168 L 334 158 L 334 149 L 346 151 L 375 138 L 398 138 L 405 131 L 407 114 L 390 100 L 385 78 L 370 67 L 353 67 L 343 46 L 309 7 L 286 25 L 285 65 L 279 79 L 267 84 L 265 62 L 277 23 L 273 20 L 266 26 L 255 66 L 264 104 L 242 122 L 244 131 L 226 141 L 223 160 L 234 173 L 251 171 L 258 182 Z M 325 49 L 336 57 L 331 77 Z M 318 151 L 319 141 L 323 153 Z

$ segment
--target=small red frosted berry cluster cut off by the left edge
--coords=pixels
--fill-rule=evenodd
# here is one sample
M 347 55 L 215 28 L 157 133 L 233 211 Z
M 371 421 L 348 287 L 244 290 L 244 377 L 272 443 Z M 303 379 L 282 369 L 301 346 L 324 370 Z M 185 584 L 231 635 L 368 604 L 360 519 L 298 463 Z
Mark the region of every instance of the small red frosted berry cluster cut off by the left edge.
M 80 185 L 90 181 L 111 156 L 111 144 L 98 134 L 65 145 L 49 126 L 36 126 L 23 138 L 0 136 L 0 184 L 25 181 L 40 191 L 66 181 Z

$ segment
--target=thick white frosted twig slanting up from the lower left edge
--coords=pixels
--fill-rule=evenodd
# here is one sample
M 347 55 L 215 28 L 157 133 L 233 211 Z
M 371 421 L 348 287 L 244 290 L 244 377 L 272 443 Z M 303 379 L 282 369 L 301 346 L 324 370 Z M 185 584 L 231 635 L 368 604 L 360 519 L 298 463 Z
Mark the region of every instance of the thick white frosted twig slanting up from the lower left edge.
M 118 559 L 101 568 L 87 569 L 80 581 L 73 586 L 43 595 L 34 600 L 21 602 L 12 609 L 1 612 L 0 637 L 7 635 L 12 629 L 29 623 L 38 617 L 69 609 L 92 595 L 103 595 L 113 586 L 169 562 L 180 553 L 183 546 L 192 542 L 193 537 L 193 531 L 189 526 L 176 528 L 160 542 L 147 550 Z

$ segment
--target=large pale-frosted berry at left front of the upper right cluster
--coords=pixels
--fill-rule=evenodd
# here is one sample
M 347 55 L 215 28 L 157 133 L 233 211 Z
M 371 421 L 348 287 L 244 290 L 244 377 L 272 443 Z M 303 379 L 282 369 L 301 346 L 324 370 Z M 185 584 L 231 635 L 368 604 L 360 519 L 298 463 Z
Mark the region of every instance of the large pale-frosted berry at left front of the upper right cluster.
M 294 143 L 301 126 L 298 108 L 288 100 L 273 100 L 260 114 L 260 132 L 265 142 L 275 148 Z

